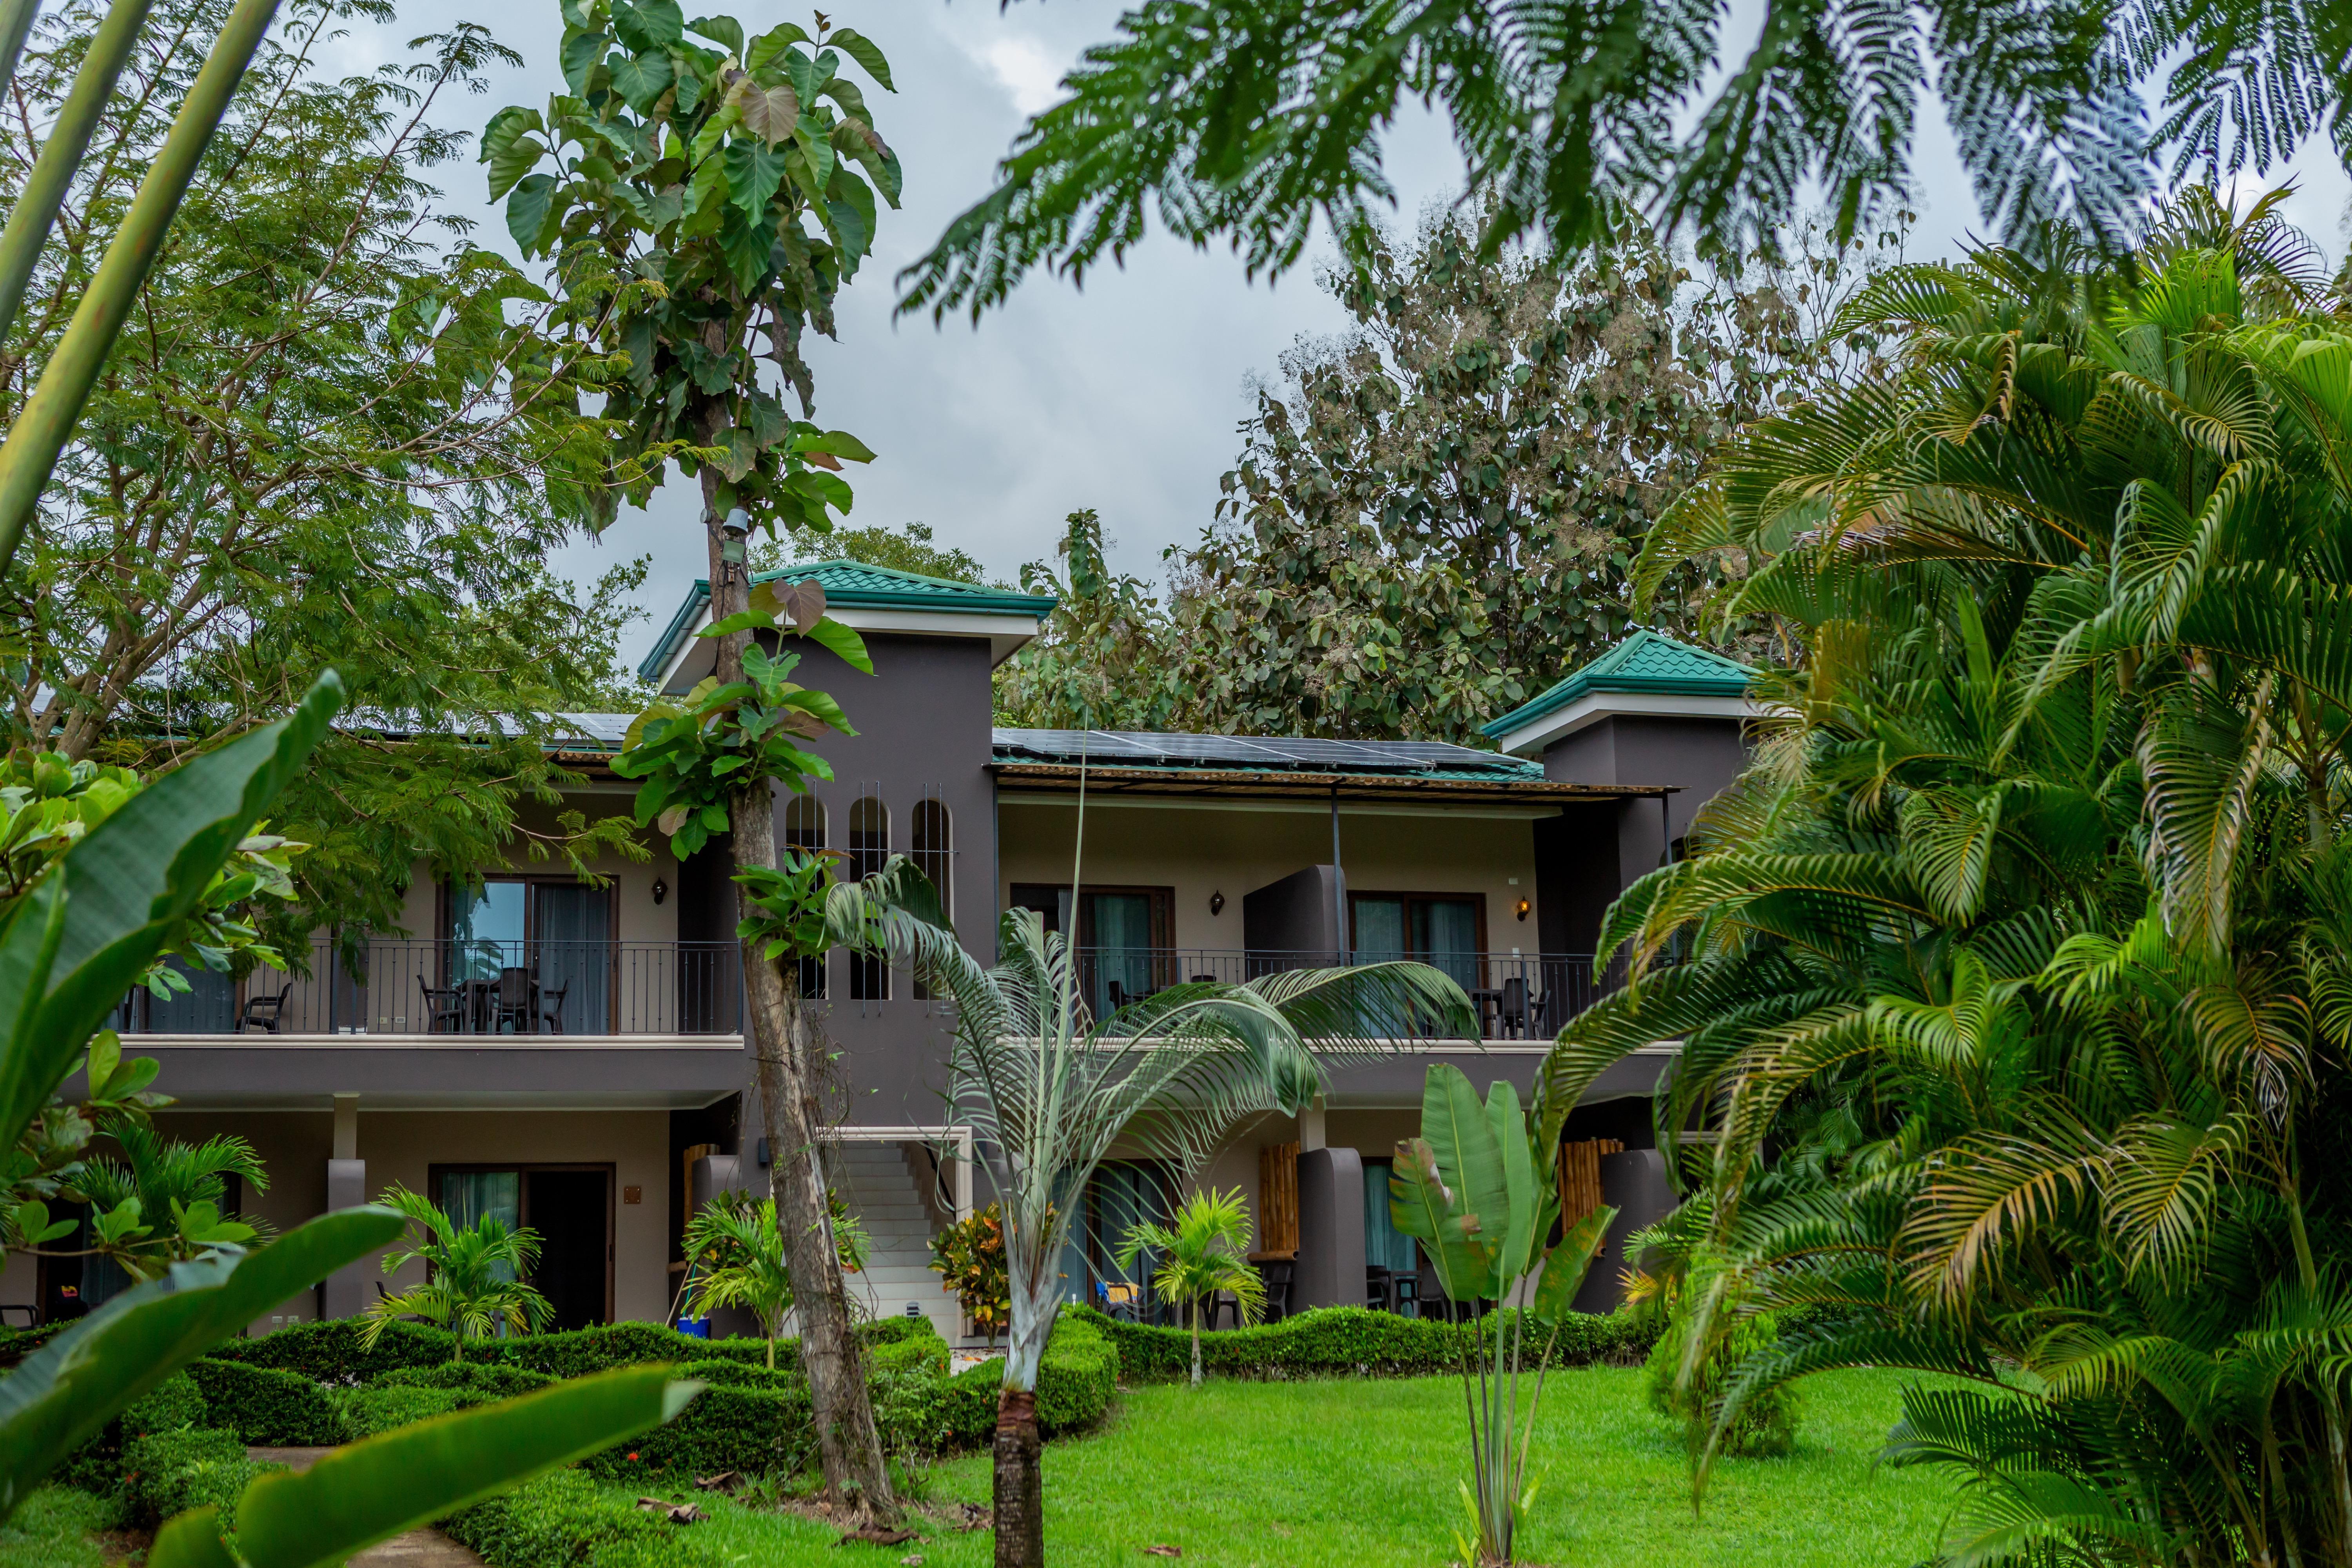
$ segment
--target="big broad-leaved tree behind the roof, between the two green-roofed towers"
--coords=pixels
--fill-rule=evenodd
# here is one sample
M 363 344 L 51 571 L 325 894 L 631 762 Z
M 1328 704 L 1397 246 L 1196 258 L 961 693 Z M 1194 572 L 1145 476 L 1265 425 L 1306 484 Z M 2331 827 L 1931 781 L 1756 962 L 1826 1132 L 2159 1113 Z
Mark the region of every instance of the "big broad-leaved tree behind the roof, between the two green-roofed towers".
M 1482 259 L 1477 216 L 1435 209 L 1374 244 L 1324 277 L 1355 329 L 1284 355 L 1218 524 L 1171 552 L 1155 684 L 1200 729 L 1475 741 L 1635 625 L 1689 635 L 1740 555 L 1637 616 L 1644 534 L 1743 423 L 1867 374 L 1870 334 L 1820 329 L 1898 240 Z

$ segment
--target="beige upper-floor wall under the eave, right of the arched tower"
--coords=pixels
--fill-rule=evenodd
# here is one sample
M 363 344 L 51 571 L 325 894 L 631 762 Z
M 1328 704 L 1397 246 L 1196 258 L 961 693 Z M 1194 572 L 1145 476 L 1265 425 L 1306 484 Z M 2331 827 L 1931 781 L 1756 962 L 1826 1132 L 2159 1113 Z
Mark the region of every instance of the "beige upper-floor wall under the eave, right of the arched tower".
M 1486 950 L 1536 952 L 1536 853 L 1526 816 L 1374 811 L 1343 802 L 1338 820 L 1350 893 L 1477 893 L 1486 905 Z M 1000 898 L 1009 903 L 1016 882 L 1065 884 L 1075 830 L 1075 802 L 1000 804 Z M 1329 863 L 1324 806 L 1087 802 L 1087 884 L 1174 889 L 1176 947 L 1240 950 L 1244 893 Z M 1225 896 L 1221 914 L 1209 914 L 1211 893 Z M 1519 898 L 1529 900 L 1526 922 L 1515 917 Z

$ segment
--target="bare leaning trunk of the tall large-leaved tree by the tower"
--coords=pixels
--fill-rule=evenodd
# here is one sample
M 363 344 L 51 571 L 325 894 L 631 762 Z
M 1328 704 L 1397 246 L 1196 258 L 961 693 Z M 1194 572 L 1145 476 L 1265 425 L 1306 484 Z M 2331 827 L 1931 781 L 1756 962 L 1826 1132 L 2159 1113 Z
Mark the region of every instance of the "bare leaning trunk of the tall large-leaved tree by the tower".
M 715 423 L 706 411 L 706 425 Z M 750 569 L 722 557 L 720 477 L 703 468 L 703 522 L 710 536 L 710 618 L 750 607 Z M 743 677 L 750 632 L 717 639 L 717 677 Z M 776 792 L 755 780 L 729 802 L 736 867 L 776 865 Z M 736 912 L 748 914 L 736 889 Z M 849 1288 L 833 1244 L 833 1201 L 826 1192 L 823 1150 L 816 1140 L 821 1114 L 809 1063 L 816 1060 L 814 1030 L 800 1001 L 800 971 L 786 971 L 743 943 L 746 1034 L 760 1086 L 760 1121 L 767 1131 L 769 1192 L 776 1197 L 776 1229 L 793 1274 L 793 1309 L 800 1314 L 800 1363 L 809 1378 L 816 1418 L 816 1453 L 826 1490 L 854 1523 L 898 1523 L 898 1500 L 889 1488 L 889 1462 L 866 1396 L 866 1359 L 849 1321 Z

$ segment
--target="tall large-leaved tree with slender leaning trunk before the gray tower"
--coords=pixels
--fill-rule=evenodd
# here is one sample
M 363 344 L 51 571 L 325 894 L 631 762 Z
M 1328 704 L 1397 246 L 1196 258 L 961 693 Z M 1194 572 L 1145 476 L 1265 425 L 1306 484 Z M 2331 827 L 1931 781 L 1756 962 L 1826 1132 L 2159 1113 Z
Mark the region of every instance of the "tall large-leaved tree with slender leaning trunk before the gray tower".
M 482 134 L 489 193 L 506 197 L 524 254 L 555 259 L 576 339 L 623 357 L 604 404 L 604 515 L 621 496 L 642 505 L 670 461 L 701 482 L 717 684 L 699 717 L 666 733 L 682 745 L 708 729 L 764 755 L 790 733 L 767 724 L 800 719 L 762 717 L 790 705 L 776 703 L 781 675 L 753 644 L 755 621 L 776 628 L 783 611 L 786 628 L 811 632 L 821 602 L 774 602 L 753 616 L 748 534 L 828 531 L 833 510 L 851 501 L 842 461 L 873 454 L 790 418 L 757 362 L 767 357 L 811 407 L 800 334 L 833 331 L 833 296 L 873 247 L 877 195 L 898 202 L 898 160 L 842 66 L 891 89 L 889 61 L 821 14 L 816 33 L 786 21 L 757 38 L 731 16 L 689 28 L 677 0 L 564 0 L 562 16 L 569 92 L 548 99 L 546 113 L 492 118 Z M 776 872 L 774 780 L 797 788 L 802 771 L 797 752 L 779 766 L 741 766 L 708 811 L 731 827 L 748 1034 L 826 1486 L 844 1507 L 891 1519 L 818 1166 L 821 1034 L 797 971 L 750 933 L 755 905 L 743 886 L 743 877 Z

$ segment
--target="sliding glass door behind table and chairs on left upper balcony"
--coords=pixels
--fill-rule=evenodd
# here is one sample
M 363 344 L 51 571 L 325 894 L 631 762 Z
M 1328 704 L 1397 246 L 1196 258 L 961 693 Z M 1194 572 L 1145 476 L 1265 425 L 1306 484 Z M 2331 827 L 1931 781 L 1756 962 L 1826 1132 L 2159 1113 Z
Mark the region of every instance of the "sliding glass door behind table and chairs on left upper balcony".
M 452 886 L 445 985 L 475 1032 L 604 1034 L 614 1011 L 612 889 L 560 877 Z

